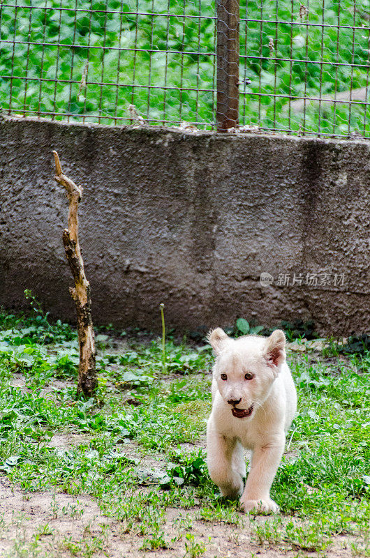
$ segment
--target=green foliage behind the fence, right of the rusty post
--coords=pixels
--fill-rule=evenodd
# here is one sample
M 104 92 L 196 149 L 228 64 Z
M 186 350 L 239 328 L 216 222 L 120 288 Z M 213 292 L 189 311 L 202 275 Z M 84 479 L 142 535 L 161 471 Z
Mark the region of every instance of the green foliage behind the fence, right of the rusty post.
M 242 17 L 244 6 L 242 3 Z M 334 98 L 334 93 L 349 90 L 351 85 L 353 89 L 366 86 L 369 34 L 361 27 L 369 27 L 369 1 L 356 13 L 349 0 L 326 1 L 325 9 L 322 3 L 310 3 L 308 14 L 302 13 L 300 6 L 290 0 L 248 2 L 252 21 L 242 26 L 241 54 L 247 58 L 241 75 L 249 77 L 251 84 L 244 88 L 248 94 L 241 107 L 243 121 L 266 128 L 316 133 L 320 127 L 327 134 L 364 130 L 369 135 L 369 123 L 364 126 L 365 112 L 369 118 L 369 111 L 364 105 L 350 109 L 346 104 L 321 103 L 319 110 L 317 102 L 307 101 L 299 110 L 288 110 L 291 97 Z M 337 27 L 339 17 L 341 29 Z M 359 28 L 355 32 L 350 29 L 353 25 Z M 272 98 L 275 91 L 279 98 Z

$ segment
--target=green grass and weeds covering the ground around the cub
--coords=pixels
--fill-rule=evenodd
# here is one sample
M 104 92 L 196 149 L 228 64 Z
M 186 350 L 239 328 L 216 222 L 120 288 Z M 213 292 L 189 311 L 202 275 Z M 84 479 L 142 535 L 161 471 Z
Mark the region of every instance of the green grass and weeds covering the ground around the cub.
M 82 505 L 62 506 L 57 495 L 89 495 L 119 522 L 122 536 L 140 538 L 140 552 L 181 545 L 181 555 L 202 556 L 210 541 L 197 538 L 194 525 L 201 524 L 232 525 L 235 540 L 249 528 L 256 548 L 321 556 L 341 536 L 353 555 L 369 555 L 367 352 L 335 365 L 333 356 L 314 365 L 310 354 L 289 357 L 299 405 L 272 488 L 282 513 L 248 518 L 237 503 L 221 499 L 207 474 L 209 349 L 170 339 L 163 369 L 160 339 L 140 345 L 128 338 L 123 345 L 117 334 L 101 332 L 98 396 L 86 401 L 75 396 L 77 345 L 70 326 L 50 324 L 36 309 L 36 317 L 3 313 L 0 328 L 0 474 L 25 495 L 55 494 L 51 520 L 84 518 Z M 83 435 L 77 445 L 51 443 L 76 434 Z M 170 509 L 182 515 L 169 531 Z M 50 522 L 39 525 L 33 546 L 17 541 L 18 555 L 38 555 L 40 541 L 54 532 Z M 108 552 L 106 529 L 91 532 L 59 541 L 61 552 Z

